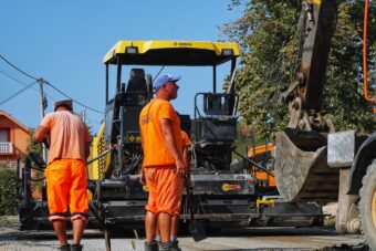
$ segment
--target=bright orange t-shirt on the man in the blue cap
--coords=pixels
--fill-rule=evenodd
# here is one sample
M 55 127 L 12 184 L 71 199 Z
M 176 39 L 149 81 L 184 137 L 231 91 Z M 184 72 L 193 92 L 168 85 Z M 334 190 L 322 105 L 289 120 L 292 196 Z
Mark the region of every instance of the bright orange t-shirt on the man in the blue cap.
M 152 100 L 139 114 L 139 128 L 143 136 L 144 167 L 175 165 L 175 158 L 169 153 L 163 137 L 160 119 L 171 122 L 175 146 L 182 155 L 180 118 L 173 105 L 165 100 Z

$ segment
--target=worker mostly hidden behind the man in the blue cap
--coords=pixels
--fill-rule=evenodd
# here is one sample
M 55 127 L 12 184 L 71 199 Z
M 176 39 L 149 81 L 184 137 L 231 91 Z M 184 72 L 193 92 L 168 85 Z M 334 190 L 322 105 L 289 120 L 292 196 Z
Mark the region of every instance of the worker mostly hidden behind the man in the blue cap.
M 188 134 L 185 130 L 181 130 L 181 139 L 182 139 L 182 157 L 184 160 L 187 165 L 187 176 L 185 177 L 185 182 L 189 184 L 189 171 L 190 171 L 190 157 L 189 157 L 189 147 L 191 145 L 191 142 L 189 139 Z M 187 186 L 188 187 L 188 186 Z M 178 226 L 179 226 L 179 215 L 174 215 L 173 219 L 171 219 L 171 232 L 170 232 L 170 242 L 171 242 L 171 250 L 174 251 L 181 251 L 181 249 L 179 248 L 178 244 L 178 240 L 177 240 L 177 234 L 178 234 Z M 157 226 L 157 230 L 156 230 L 156 238 L 155 240 L 160 243 L 160 231 L 159 228 Z

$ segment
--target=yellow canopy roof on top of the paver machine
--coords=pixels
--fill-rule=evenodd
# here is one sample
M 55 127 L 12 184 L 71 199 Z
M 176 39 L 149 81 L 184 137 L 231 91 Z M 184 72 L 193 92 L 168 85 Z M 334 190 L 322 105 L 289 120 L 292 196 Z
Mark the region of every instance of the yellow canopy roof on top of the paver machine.
M 119 41 L 104 56 L 105 64 L 219 65 L 240 55 L 237 43 L 200 41 Z

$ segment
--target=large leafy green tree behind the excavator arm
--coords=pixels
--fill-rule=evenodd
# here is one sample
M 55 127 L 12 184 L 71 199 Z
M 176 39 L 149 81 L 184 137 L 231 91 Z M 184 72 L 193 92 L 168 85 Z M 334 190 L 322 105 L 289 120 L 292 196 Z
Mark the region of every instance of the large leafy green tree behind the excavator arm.
M 362 86 L 364 1 L 338 0 L 337 3 L 322 109 L 334 121 L 337 130 L 356 128 L 369 133 L 375 129 L 375 124 Z M 226 24 L 222 32 L 242 49 L 241 67 L 236 80 L 239 112 L 248 126 L 254 123 L 261 139 L 284 128 L 289 119 L 288 107 L 280 100 L 281 93 L 295 77 L 301 1 L 231 0 L 229 9 L 240 6 L 244 8 L 243 15 Z M 376 6 L 370 4 L 370 76 L 375 75 L 376 21 L 372 15 L 375 10 Z

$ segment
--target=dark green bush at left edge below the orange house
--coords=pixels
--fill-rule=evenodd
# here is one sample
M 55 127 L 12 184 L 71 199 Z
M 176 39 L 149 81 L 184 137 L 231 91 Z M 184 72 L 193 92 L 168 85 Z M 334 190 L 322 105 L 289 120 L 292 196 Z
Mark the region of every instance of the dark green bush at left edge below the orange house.
M 14 170 L 0 170 L 0 216 L 15 215 Z

